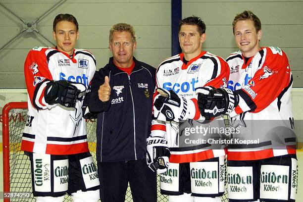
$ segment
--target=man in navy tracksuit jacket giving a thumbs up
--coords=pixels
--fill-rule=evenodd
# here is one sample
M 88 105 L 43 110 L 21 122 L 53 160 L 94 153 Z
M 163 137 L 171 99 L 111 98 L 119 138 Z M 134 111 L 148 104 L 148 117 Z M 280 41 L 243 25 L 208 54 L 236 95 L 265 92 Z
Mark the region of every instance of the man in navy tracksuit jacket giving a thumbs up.
M 112 26 L 113 57 L 95 73 L 86 96 L 98 112 L 97 164 L 102 202 L 124 202 L 128 183 L 134 202 L 156 202 L 156 174 L 146 163 L 146 139 L 151 133 L 155 69 L 133 57 L 134 28 Z

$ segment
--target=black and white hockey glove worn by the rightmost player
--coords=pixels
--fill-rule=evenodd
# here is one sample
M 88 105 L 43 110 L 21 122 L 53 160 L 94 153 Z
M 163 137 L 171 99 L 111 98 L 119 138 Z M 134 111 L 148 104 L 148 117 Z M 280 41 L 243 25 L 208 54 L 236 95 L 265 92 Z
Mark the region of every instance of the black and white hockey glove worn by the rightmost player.
M 198 106 L 205 119 L 229 114 L 239 104 L 239 95 L 227 88 L 206 86 L 197 88 L 196 93 L 199 93 Z

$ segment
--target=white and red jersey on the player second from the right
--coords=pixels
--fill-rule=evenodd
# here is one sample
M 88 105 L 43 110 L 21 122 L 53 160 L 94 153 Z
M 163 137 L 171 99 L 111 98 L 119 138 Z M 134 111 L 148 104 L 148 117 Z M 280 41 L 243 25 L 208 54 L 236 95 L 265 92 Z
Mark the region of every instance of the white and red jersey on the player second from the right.
M 192 100 L 196 108 L 193 119 L 201 120 L 204 117 L 201 116 L 198 108 L 196 88 L 203 86 L 226 87 L 229 77 L 228 64 L 221 57 L 205 51 L 187 63 L 185 62 L 183 53 L 162 61 L 157 68 L 156 84 L 159 88 L 173 90 L 179 96 Z M 216 119 L 222 119 L 222 117 Z M 168 141 L 171 153 L 169 162 L 197 162 L 225 155 L 224 150 L 205 149 L 205 145 L 180 146 L 179 126 L 180 124 L 174 121 L 164 122 L 157 119 L 152 121 L 151 135 L 165 137 Z

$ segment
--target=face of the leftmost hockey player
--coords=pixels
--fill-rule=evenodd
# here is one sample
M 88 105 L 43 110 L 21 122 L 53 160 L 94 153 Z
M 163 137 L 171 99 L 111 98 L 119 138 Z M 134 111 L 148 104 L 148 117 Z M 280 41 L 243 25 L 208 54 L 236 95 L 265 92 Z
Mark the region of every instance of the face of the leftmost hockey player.
M 56 24 L 55 32 L 52 31 L 52 37 L 56 40 L 58 50 L 72 55 L 79 38 L 79 31 L 74 23 L 60 21 Z

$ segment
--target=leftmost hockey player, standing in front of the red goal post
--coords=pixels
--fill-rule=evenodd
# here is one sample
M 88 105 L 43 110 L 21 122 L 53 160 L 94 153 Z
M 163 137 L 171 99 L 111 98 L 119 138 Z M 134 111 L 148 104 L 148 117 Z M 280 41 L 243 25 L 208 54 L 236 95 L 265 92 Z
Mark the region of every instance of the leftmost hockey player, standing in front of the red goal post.
M 55 48 L 36 47 L 24 64 L 28 117 L 21 150 L 29 156 L 37 202 L 97 202 L 99 178 L 89 152 L 82 102 L 96 70 L 95 57 L 74 49 L 79 37 L 73 15 L 53 21 Z

